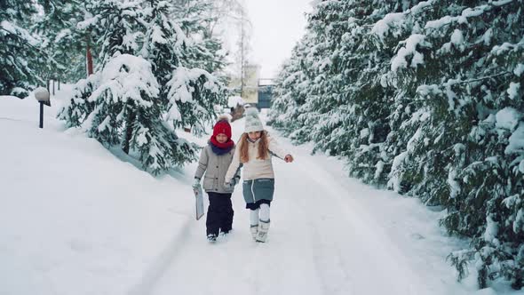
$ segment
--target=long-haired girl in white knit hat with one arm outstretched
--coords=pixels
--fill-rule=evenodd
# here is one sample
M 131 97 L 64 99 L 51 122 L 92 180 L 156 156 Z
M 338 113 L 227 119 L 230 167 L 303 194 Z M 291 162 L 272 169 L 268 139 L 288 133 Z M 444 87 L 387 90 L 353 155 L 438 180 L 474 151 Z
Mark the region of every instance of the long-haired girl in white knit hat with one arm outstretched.
M 248 108 L 245 114 L 245 130 L 234 150 L 233 161 L 226 172 L 226 184 L 243 164 L 243 196 L 246 209 L 250 210 L 250 231 L 257 242 L 266 242 L 269 230 L 269 206 L 274 194 L 274 171 L 272 156 L 293 162 L 293 156 L 278 146 L 264 131 L 256 108 Z

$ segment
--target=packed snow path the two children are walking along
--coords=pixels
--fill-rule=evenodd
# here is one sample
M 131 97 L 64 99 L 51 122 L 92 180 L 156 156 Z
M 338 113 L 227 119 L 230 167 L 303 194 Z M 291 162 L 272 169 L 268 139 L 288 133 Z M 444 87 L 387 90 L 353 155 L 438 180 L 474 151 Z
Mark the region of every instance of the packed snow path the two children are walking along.
M 242 124 L 235 123 L 234 132 L 242 131 Z M 147 282 L 132 293 L 444 294 L 452 287 L 457 291 L 453 280 L 443 283 L 434 273 L 428 277 L 414 271 L 406 251 L 400 251 L 385 234 L 384 225 L 357 202 L 379 191 L 347 178 L 337 179 L 315 161 L 322 159 L 308 155 L 307 148 L 279 141 L 296 161 L 274 159 L 275 196 L 268 242 L 251 240 L 242 187 L 237 187 L 232 234 L 210 244 L 204 236 L 205 220 L 191 222 L 171 249 L 176 253 L 169 262 L 163 260 L 163 270 L 153 267 L 155 275 L 146 275 Z M 377 208 L 375 213 L 382 211 Z M 419 236 L 412 239 L 417 242 Z M 437 263 L 451 273 L 444 261 Z M 420 283 L 428 278 L 434 282 Z

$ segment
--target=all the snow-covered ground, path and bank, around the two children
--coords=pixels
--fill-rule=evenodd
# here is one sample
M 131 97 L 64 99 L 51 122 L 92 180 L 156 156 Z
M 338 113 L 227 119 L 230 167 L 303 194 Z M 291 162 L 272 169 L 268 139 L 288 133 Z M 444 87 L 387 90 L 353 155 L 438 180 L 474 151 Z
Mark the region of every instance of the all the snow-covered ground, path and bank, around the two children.
M 66 131 L 54 116 L 68 91 L 45 108 L 43 130 L 36 100 L 0 97 L 2 295 L 518 293 L 477 291 L 474 274 L 456 282 L 445 258 L 465 242 L 438 227 L 441 212 L 278 137 L 296 161 L 274 160 L 268 243 L 250 238 L 242 187 L 233 232 L 207 243 L 195 164 L 155 178 Z M 238 139 L 243 120 L 233 128 Z

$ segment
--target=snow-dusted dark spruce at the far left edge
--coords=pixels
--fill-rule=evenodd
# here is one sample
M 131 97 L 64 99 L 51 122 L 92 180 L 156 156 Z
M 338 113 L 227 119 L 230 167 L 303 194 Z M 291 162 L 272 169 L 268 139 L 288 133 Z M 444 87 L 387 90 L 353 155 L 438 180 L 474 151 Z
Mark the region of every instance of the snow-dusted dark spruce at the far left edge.
M 36 8 L 27 1 L 0 2 L 0 94 L 20 98 L 43 84 L 34 70 L 44 59 L 40 41 L 31 36 L 28 22 Z

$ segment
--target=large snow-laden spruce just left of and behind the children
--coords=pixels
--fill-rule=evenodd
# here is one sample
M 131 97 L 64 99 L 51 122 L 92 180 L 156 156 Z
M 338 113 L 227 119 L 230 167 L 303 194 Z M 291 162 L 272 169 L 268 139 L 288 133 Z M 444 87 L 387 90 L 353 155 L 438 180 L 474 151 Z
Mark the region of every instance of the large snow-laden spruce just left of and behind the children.
M 195 145 L 179 139 L 175 129 L 202 132 L 223 100 L 214 76 L 184 67 L 191 42 L 169 17 L 170 9 L 169 2 L 155 0 L 88 5 L 81 27 L 98 36 L 99 74 L 77 84 L 60 113 L 105 146 L 139 157 L 154 174 L 195 158 Z

